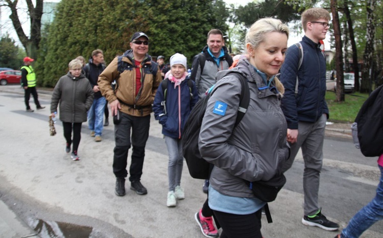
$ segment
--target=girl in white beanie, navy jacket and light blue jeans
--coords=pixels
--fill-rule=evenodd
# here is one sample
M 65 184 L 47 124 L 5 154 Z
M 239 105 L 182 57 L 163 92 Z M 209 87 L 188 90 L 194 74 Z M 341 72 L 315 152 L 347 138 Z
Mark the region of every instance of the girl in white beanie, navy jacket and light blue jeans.
M 153 103 L 156 120 L 162 125 L 169 163 L 169 192 L 166 205 L 174 207 L 177 199 L 184 199 L 181 188 L 183 155 L 181 138 L 190 111 L 198 101 L 198 91 L 193 80 L 187 76 L 186 57 L 176 53 L 170 58 L 171 69 L 158 87 Z M 191 96 L 193 94 L 193 96 Z

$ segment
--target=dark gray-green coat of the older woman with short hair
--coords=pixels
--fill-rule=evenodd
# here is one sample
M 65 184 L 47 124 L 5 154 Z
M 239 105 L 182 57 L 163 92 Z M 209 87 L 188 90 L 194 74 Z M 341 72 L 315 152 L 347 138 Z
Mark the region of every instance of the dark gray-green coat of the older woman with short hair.
M 59 79 L 53 89 L 51 113 L 57 111 L 57 105 L 60 103 L 62 122 L 86 122 L 86 112 L 93 103 L 93 96 L 89 80 L 83 73 L 76 78 L 68 72 Z

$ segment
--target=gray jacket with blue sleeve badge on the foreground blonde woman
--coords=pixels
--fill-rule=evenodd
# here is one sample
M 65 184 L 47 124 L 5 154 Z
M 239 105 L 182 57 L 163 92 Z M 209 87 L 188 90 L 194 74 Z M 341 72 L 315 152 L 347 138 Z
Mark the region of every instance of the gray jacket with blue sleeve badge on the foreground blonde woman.
M 270 90 L 247 60 L 240 60 L 233 70 L 239 70 L 248 79 L 247 112 L 234 128 L 241 83 L 233 74 L 219 80 L 202 121 L 199 149 L 202 157 L 215 165 L 210 176 L 214 189 L 223 195 L 250 198 L 254 195 L 243 179 L 268 181 L 281 173 L 289 157 L 287 124 L 276 89 Z M 225 73 L 219 72 L 217 78 Z M 263 87 L 266 89 L 260 89 Z M 214 107 L 221 109 L 220 114 L 213 112 Z

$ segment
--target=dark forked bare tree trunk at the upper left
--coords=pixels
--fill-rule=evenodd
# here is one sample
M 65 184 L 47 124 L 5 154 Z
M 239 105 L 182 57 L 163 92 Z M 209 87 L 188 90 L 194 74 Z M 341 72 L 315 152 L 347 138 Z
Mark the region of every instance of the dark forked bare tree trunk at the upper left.
M 42 16 L 42 4 L 43 0 L 36 0 L 36 7 L 33 6 L 32 0 L 25 0 L 28 7 L 28 14 L 31 21 L 30 38 L 27 37 L 24 30 L 21 27 L 21 22 L 17 14 L 18 0 L 4 0 L 6 6 L 11 10 L 9 18 L 12 21 L 15 28 L 17 37 L 21 44 L 24 46 L 27 55 L 36 59 L 37 50 L 39 49 L 39 43 L 41 39 L 41 16 Z

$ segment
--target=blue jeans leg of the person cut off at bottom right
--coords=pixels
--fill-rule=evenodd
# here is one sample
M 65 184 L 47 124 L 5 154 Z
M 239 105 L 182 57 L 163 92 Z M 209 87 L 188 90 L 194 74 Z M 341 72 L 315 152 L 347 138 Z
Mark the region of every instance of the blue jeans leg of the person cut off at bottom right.
M 380 182 L 376 188 L 376 196 L 372 201 L 358 211 L 343 229 L 341 237 L 359 237 L 375 222 L 383 219 L 383 167 L 379 165 Z

